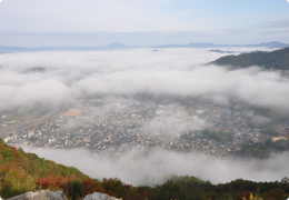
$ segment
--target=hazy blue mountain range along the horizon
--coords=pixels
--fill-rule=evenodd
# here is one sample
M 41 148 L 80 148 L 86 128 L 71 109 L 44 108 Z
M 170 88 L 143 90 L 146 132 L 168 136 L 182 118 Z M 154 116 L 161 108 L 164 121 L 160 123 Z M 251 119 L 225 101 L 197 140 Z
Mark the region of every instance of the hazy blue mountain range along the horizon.
M 163 46 L 126 46 L 123 43 L 111 43 L 106 47 L 34 47 L 34 48 L 22 48 L 22 47 L 4 47 L 0 46 L 0 53 L 12 53 L 12 52 L 27 52 L 27 51 L 99 51 L 99 50 L 120 50 L 120 49 L 134 49 L 134 48 L 153 48 L 153 49 L 167 49 L 167 48 L 225 48 L 225 47 L 263 47 L 263 48 L 287 48 L 288 43 L 281 43 L 277 41 L 262 42 L 259 44 L 215 44 L 215 43 L 188 43 L 188 44 L 163 44 Z

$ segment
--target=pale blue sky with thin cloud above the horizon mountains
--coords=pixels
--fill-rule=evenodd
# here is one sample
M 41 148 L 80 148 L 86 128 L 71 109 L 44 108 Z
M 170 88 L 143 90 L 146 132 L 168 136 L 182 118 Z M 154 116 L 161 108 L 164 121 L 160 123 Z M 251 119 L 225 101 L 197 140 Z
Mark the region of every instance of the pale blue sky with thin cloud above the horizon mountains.
M 286 0 L 2 0 L 0 46 L 289 43 L 288 8 Z

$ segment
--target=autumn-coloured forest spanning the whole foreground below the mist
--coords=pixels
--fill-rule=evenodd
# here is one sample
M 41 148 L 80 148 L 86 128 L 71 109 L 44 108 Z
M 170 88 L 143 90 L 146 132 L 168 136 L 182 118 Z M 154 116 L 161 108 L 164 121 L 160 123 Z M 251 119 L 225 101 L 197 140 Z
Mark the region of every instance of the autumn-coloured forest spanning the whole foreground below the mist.
M 275 146 L 270 142 L 266 144 Z M 287 200 L 289 179 L 283 178 L 280 182 L 237 179 L 225 184 L 212 184 L 196 177 L 171 176 L 162 184 L 132 187 L 118 178 L 91 179 L 76 168 L 26 153 L 0 139 L 0 196 L 10 198 L 42 189 L 61 190 L 71 200 L 83 199 L 94 191 L 123 200 Z

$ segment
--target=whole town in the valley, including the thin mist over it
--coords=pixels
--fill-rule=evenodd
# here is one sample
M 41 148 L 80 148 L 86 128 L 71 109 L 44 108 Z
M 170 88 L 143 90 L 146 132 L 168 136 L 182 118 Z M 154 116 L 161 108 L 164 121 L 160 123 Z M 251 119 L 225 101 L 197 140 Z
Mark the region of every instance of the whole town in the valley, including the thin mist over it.
M 149 156 L 162 149 L 237 159 L 243 143 L 287 140 L 288 121 L 275 126 L 279 136 L 271 137 L 266 129 L 250 126 L 249 119 L 253 114 L 253 110 L 245 113 L 240 108 L 190 98 L 152 101 L 139 96 L 84 96 L 67 103 L 66 109 L 53 118 L 10 132 L 4 142 L 14 147 L 87 149 L 96 156 L 106 152 L 117 157 L 130 149 L 139 149 Z M 6 117 L 2 116 L 2 127 L 9 124 Z

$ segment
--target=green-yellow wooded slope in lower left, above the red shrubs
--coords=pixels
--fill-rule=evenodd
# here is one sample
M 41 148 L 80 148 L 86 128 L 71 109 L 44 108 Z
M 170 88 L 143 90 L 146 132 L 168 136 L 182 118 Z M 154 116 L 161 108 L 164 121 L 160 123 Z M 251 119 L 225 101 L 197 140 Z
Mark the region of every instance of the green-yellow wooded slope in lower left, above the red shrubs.
M 64 167 L 7 146 L 0 138 L 0 196 L 10 198 L 41 189 L 48 178 L 82 180 L 88 178 L 76 168 Z M 56 188 L 57 189 L 57 188 Z

